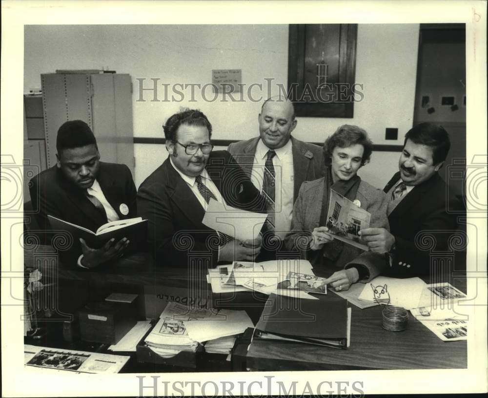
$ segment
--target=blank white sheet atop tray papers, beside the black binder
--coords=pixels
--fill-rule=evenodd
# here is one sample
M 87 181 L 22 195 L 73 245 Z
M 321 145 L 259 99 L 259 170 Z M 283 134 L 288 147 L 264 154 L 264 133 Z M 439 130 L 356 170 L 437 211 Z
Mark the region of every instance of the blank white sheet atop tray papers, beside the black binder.
M 195 341 L 203 342 L 214 338 L 238 335 L 254 327 L 245 311 L 220 310 L 220 319 L 195 319 L 186 323 L 188 336 Z

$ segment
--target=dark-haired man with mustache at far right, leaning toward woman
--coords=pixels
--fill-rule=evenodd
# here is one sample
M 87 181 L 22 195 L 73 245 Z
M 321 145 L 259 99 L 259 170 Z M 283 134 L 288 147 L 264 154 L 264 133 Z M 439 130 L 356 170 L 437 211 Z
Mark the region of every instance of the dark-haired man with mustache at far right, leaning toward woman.
M 419 233 L 432 235 L 435 250 L 446 250 L 448 234 L 456 230 L 456 216 L 447 209 L 459 203 L 438 174 L 449 152 L 447 131 L 433 123 L 420 123 L 405 135 L 399 172 L 386 184 L 390 232 L 384 228 L 360 231 L 369 249 L 388 253 L 386 275 L 426 275 L 430 271 L 430 252 L 416 242 Z

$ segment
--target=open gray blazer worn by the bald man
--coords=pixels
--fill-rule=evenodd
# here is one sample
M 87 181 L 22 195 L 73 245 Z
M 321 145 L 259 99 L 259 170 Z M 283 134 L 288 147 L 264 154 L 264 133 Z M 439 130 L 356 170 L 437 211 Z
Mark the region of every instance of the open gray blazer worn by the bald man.
M 247 176 L 251 177 L 254 155 L 259 137 L 233 142 L 227 148 L 234 159 L 244 169 Z M 304 181 L 324 176 L 324 161 L 322 148 L 315 144 L 300 141 L 291 137 L 293 154 L 293 201 L 298 197 L 298 191 Z

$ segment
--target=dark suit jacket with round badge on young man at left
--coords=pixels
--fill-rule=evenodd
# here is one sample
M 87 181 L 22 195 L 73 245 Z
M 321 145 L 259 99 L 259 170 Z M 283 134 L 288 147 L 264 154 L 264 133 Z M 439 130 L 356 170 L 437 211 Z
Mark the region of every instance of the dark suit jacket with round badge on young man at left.
M 137 217 L 137 191 L 132 174 L 126 165 L 100 162 L 97 181 L 102 188 L 103 195 L 120 219 Z M 80 188 L 65 179 L 57 166 L 33 177 L 29 183 L 29 190 L 32 207 L 41 230 L 51 229 L 47 215 L 80 225 L 94 232 L 107 222 L 102 212 L 86 198 Z M 127 215 L 123 215 L 120 211 L 122 203 L 129 208 Z M 49 239 L 49 236 L 46 239 Z M 76 263 L 81 254 L 79 241 L 75 239 L 73 246 L 64 255 L 60 254 L 63 263 Z

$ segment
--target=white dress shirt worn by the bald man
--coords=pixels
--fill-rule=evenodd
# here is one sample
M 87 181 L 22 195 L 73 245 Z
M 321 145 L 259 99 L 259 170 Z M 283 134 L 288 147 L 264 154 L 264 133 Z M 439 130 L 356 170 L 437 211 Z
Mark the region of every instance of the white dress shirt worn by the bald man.
M 261 192 L 263 190 L 264 166 L 269 148 L 260 139 L 256 146 L 256 155 L 252 167 L 251 180 Z M 291 140 L 285 146 L 275 149 L 273 157 L 275 169 L 275 231 L 281 239 L 290 231 L 293 215 L 293 153 Z

